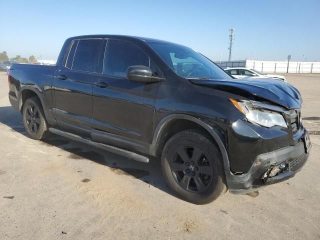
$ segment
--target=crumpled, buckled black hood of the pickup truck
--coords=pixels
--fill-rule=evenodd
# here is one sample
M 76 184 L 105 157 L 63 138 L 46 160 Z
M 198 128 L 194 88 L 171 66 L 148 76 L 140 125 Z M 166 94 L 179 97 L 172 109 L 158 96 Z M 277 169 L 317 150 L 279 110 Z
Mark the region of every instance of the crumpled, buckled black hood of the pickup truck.
M 245 92 L 275 102 L 287 108 L 300 108 L 302 97 L 300 92 L 291 84 L 271 78 L 230 79 L 230 80 L 201 80 L 189 79 L 193 84 L 235 94 Z

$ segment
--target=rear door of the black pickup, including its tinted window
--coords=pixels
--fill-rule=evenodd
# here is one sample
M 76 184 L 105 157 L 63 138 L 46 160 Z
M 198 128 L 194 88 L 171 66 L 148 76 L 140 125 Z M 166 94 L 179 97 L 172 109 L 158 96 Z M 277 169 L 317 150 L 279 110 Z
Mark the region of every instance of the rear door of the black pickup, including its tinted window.
M 102 39 L 70 43 L 65 62 L 54 74 L 53 112 L 60 126 L 77 133 L 91 133 L 92 83 Z

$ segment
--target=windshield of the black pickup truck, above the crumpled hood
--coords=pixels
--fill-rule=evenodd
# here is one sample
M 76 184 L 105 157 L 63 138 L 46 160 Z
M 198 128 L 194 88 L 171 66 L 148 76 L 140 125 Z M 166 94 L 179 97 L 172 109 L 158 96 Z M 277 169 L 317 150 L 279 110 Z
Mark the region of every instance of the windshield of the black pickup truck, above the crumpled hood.
M 221 68 L 189 47 L 164 42 L 147 42 L 148 45 L 179 76 L 202 79 L 230 79 Z

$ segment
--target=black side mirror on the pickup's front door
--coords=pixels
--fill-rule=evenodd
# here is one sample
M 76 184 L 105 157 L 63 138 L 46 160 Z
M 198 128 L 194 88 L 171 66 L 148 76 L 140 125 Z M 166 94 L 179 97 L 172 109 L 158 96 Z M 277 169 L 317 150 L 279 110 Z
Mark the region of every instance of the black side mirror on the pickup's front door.
M 160 77 L 152 76 L 152 71 L 147 66 L 128 66 L 125 73 L 126 78 L 132 81 L 140 82 L 156 82 L 164 80 Z

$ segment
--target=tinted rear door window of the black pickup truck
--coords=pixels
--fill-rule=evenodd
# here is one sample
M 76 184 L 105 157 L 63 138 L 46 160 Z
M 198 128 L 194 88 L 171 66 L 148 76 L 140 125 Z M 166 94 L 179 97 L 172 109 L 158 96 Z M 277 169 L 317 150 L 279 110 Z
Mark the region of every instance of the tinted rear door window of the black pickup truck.
M 100 39 L 79 40 L 71 68 L 73 70 L 93 72 L 101 41 Z

